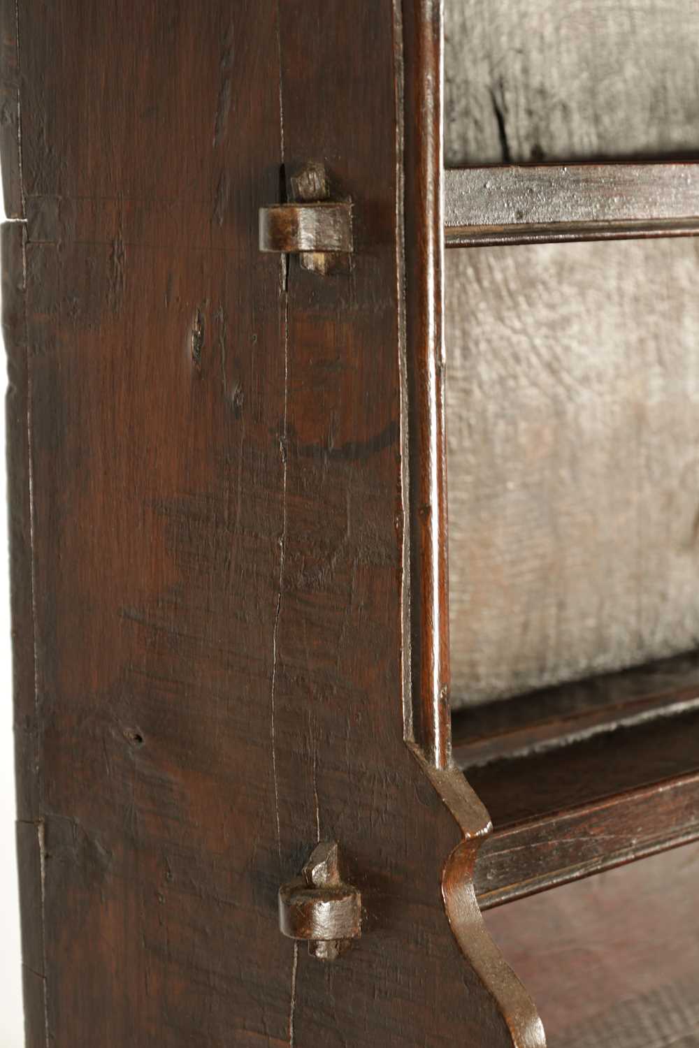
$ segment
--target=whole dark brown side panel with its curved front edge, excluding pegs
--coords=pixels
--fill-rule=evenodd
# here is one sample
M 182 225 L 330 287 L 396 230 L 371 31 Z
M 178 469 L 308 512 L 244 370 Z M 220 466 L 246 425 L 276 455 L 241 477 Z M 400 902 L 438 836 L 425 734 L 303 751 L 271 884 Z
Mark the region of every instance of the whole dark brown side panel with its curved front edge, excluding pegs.
M 416 109 L 439 5 L 18 13 L 26 222 L 3 265 L 30 1035 L 542 1045 L 476 903 L 487 813 L 435 767 L 438 310 L 401 330 L 408 268 L 419 308 L 439 288 L 434 82 L 425 126 Z M 259 209 L 309 159 L 354 205 L 328 280 L 259 253 Z M 411 635 L 424 752 L 406 744 Z M 320 839 L 365 908 L 333 965 L 278 925 Z

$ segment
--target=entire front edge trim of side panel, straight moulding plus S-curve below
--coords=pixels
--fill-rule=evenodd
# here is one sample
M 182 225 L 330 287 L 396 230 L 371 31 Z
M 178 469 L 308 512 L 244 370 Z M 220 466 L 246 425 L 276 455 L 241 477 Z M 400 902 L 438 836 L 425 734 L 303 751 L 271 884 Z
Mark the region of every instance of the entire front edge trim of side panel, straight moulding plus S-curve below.
M 410 499 L 410 646 L 406 740 L 458 823 L 463 840 L 442 870 L 450 926 L 473 973 L 473 1003 L 488 1046 L 544 1048 L 531 998 L 490 938 L 474 887 L 493 829 L 452 761 L 443 313 L 443 30 L 441 0 L 403 3 L 406 363 Z M 407 556 L 407 554 L 405 554 Z M 468 978 L 468 977 L 466 977 Z M 483 994 L 483 990 L 485 994 Z M 487 1001 L 487 1005 L 483 1005 Z M 477 1002 L 481 1002 L 478 1004 Z M 496 1030 L 498 1031 L 496 1033 Z

